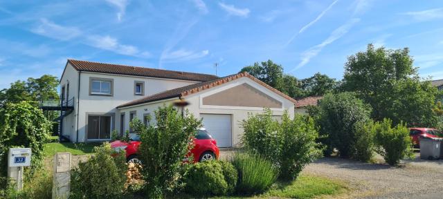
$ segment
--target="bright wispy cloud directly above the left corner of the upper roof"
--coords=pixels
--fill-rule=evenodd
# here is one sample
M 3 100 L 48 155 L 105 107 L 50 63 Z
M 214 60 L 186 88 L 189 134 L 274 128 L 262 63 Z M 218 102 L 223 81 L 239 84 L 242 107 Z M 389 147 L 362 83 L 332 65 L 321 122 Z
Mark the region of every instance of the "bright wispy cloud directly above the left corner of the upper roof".
M 35 34 L 43 35 L 45 37 L 51 37 L 58 40 L 69 40 L 74 37 L 78 37 L 82 32 L 76 27 L 60 26 L 48 19 L 40 19 L 40 23 L 37 27 L 31 30 Z

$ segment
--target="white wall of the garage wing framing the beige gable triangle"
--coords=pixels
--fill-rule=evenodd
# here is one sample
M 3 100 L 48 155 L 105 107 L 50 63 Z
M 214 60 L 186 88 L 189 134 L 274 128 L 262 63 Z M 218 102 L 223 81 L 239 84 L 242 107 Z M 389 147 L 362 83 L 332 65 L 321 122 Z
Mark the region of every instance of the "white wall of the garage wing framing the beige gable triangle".
M 282 115 L 285 110 L 288 111 L 289 116 L 293 117 L 294 115 L 294 104 L 289 99 L 286 99 L 282 97 L 281 95 L 278 95 L 277 93 L 274 93 L 273 91 L 270 91 L 268 88 L 257 84 L 257 82 L 254 82 L 252 79 L 249 79 L 248 77 L 242 77 L 240 79 L 236 79 L 233 82 L 228 82 L 226 84 L 223 84 L 221 86 L 216 86 L 214 88 L 210 88 L 204 91 L 200 91 L 199 93 L 195 93 L 192 95 L 185 96 L 184 99 L 187 102 L 190 102 L 190 105 L 187 106 L 190 113 L 194 114 L 197 118 L 200 118 L 200 114 L 204 113 L 212 113 L 212 114 L 229 114 L 231 115 L 232 121 L 232 143 L 233 146 L 239 145 L 240 137 L 243 135 L 243 129 L 239 125 L 239 122 L 242 120 L 245 120 L 248 117 L 248 113 L 262 113 L 263 108 L 253 108 L 253 107 L 230 107 L 225 106 L 224 108 L 220 107 L 210 107 L 210 106 L 202 106 L 201 104 L 201 97 L 204 97 L 205 95 L 210 95 L 212 93 L 217 93 L 219 91 L 224 91 L 227 88 L 230 88 L 232 86 L 237 86 L 240 84 L 250 84 L 254 86 L 255 88 L 259 89 L 263 93 L 266 93 L 267 95 L 278 99 L 280 102 L 282 102 L 283 108 L 273 108 L 271 109 L 273 111 L 273 115 Z M 177 98 L 176 98 L 177 99 Z M 174 101 L 174 99 L 170 99 L 166 102 L 158 102 L 154 104 L 145 104 L 145 105 L 139 105 L 131 108 L 123 108 L 120 111 L 120 113 L 125 112 L 126 119 L 125 119 L 125 126 L 128 126 L 129 123 L 129 112 L 130 111 L 137 111 L 137 117 L 143 121 L 143 113 L 153 113 L 156 108 L 159 106 L 163 106 L 163 104 L 170 104 Z M 145 109 L 147 111 L 145 111 Z M 152 117 L 154 115 L 152 114 Z

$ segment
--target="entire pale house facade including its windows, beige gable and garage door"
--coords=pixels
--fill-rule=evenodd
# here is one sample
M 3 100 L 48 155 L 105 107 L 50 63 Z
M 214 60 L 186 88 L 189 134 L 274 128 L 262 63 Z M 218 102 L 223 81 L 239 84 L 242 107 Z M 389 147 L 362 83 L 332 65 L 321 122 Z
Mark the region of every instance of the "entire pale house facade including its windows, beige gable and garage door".
M 203 118 L 208 131 L 213 131 L 209 133 L 213 134 L 216 140 L 219 138 L 217 142 L 220 146 L 238 146 L 243 134 L 240 122 L 248 117 L 248 113 L 262 113 L 262 106 L 273 107 L 271 111 L 276 120 L 281 118 L 284 111 L 288 111 L 290 117 L 294 115 L 294 100 L 290 100 L 290 97 L 278 93 L 273 88 L 266 87 L 267 85 L 257 79 L 246 76 L 239 75 L 238 78 L 232 76 L 228 81 L 224 79 L 222 84 L 206 87 L 202 91 L 181 97 L 190 103 L 186 106 L 190 113 L 197 118 Z M 73 99 L 74 102 L 73 112 L 62 119 L 62 135 L 71 142 L 107 141 L 111 140 L 111 131 L 114 129 L 119 133 L 130 130 L 129 121 L 134 118 L 144 122 L 145 116 L 150 115 L 151 124 L 155 124 L 154 111 L 159 106 L 172 104 L 180 97 L 159 99 L 123 108 L 116 107 L 196 83 L 199 82 L 79 71 L 68 62 L 60 86 L 64 90 L 63 98 Z M 142 92 L 136 92 L 136 84 L 143 85 Z M 102 95 L 103 93 L 97 95 L 102 91 L 110 92 L 107 95 Z M 225 94 L 230 97 L 226 97 Z M 226 105 L 226 102 L 235 106 Z

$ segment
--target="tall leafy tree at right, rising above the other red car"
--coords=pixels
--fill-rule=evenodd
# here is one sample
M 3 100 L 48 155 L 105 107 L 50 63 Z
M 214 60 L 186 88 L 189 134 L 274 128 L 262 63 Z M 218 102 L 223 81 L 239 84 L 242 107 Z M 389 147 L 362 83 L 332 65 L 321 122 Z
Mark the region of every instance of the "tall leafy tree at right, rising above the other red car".
M 402 120 L 433 125 L 436 89 L 420 81 L 408 48 L 387 50 L 369 44 L 365 52 L 347 58 L 341 86 L 370 104 L 375 120 L 390 117 L 397 124 Z

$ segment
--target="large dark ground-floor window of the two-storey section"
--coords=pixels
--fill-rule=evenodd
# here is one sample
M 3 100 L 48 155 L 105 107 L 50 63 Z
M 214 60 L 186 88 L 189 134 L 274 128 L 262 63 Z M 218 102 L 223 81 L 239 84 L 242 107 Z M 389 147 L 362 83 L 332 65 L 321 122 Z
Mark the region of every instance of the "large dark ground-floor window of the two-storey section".
M 88 140 L 107 140 L 111 138 L 111 116 L 88 116 Z

